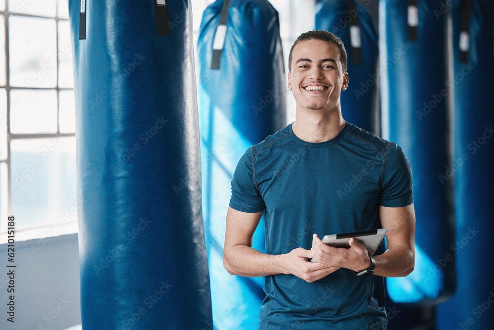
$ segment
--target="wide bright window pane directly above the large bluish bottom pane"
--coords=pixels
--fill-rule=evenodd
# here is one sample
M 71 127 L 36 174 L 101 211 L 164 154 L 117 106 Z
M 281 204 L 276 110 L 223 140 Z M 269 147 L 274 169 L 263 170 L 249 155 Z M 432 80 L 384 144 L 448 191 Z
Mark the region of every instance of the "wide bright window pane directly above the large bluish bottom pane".
M 11 90 L 10 133 L 57 133 L 56 91 Z

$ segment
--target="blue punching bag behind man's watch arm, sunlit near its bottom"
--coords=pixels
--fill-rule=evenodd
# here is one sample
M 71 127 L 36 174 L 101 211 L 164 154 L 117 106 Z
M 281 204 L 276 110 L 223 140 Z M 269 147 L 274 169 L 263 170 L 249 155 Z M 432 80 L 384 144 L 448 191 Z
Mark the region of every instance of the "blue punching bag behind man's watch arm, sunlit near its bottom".
M 448 21 L 440 0 L 379 3 L 381 104 L 385 139 L 400 145 L 413 169 L 415 269 L 386 279 L 395 302 L 434 305 L 454 292 L 453 186 L 438 175 L 451 165 Z

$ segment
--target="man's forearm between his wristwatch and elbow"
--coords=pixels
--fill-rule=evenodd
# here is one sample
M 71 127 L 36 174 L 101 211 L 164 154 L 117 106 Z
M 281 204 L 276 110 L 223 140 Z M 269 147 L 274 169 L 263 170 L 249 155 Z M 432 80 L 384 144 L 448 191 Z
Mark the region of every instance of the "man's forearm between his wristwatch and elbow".
M 375 260 L 374 275 L 382 277 L 407 276 L 415 265 L 415 252 L 405 246 L 392 246 L 372 258 Z

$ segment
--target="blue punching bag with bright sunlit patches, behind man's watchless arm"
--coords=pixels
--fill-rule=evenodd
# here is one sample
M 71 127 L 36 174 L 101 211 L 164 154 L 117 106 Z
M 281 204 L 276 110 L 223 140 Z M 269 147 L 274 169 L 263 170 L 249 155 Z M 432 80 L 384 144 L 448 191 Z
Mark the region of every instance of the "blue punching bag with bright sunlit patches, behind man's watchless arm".
M 267 0 L 218 0 L 204 11 L 198 40 L 203 214 L 216 329 L 257 329 L 264 278 L 223 266 L 231 180 L 240 157 L 287 125 L 278 12 Z M 264 252 L 264 218 L 253 248 Z

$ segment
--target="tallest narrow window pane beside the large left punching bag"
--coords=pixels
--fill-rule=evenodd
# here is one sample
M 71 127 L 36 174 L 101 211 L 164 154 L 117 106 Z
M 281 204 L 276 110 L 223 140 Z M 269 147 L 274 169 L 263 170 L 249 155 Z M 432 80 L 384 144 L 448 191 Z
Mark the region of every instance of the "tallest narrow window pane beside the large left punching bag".
M 69 21 L 58 21 L 58 87 L 74 88 Z

